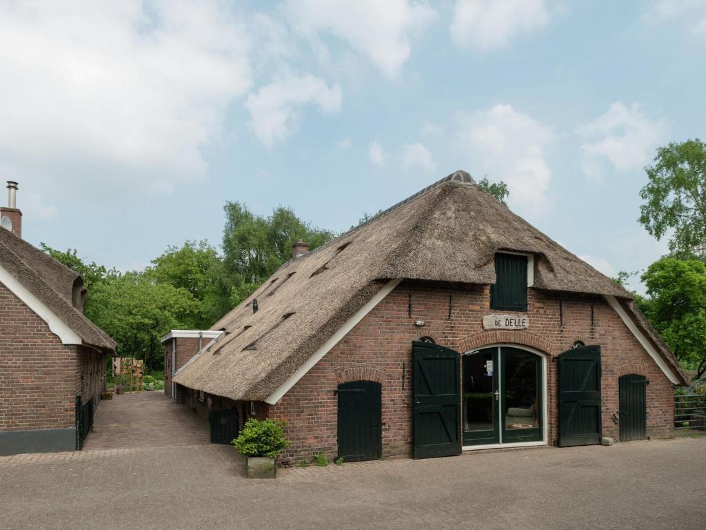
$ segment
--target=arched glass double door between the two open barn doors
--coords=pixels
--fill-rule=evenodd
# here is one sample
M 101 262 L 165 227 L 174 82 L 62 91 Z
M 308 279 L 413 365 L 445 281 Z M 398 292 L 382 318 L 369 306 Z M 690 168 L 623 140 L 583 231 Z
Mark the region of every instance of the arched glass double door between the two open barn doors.
M 542 440 L 542 358 L 512 347 L 462 357 L 464 445 Z

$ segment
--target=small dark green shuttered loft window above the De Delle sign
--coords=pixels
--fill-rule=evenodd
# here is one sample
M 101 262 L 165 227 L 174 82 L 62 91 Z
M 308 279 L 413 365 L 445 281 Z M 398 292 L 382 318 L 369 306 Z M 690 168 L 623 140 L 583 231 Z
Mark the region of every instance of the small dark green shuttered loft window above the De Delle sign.
M 495 285 L 490 288 L 491 309 L 527 311 L 527 256 L 495 255 Z

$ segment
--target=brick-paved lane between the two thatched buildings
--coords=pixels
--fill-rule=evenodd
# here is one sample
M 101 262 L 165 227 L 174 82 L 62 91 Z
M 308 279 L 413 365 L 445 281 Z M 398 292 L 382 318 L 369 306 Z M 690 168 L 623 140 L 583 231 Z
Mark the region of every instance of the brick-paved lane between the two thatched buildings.
M 134 392 L 101 401 L 83 449 L 208 444 L 208 423 L 164 392 Z

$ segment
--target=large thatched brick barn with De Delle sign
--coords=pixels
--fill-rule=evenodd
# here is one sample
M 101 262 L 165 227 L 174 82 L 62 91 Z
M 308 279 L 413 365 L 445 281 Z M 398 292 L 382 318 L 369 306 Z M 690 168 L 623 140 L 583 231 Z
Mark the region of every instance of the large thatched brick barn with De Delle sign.
M 287 420 L 295 461 L 671 437 L 686 383 L 630 293 L 465 172 L 298 242 L 208 342 L 183 333 L 174 399 Z

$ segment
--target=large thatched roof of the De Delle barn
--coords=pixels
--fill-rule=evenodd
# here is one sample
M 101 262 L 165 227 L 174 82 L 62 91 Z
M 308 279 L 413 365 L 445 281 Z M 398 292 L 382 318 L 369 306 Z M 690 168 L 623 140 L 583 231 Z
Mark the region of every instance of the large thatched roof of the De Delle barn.
M 266 399 L 385 281 L 495 283 L 494 256 L 502 250 L 534 255 L 534 288 L 631 298 L 459 171 L 284 264 L 213 325 L 226 333 L 174 381 L 231 399 Z

